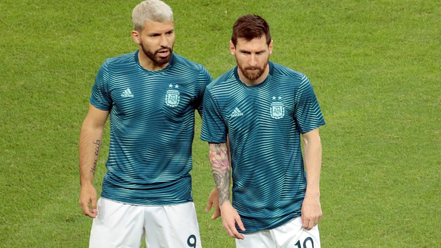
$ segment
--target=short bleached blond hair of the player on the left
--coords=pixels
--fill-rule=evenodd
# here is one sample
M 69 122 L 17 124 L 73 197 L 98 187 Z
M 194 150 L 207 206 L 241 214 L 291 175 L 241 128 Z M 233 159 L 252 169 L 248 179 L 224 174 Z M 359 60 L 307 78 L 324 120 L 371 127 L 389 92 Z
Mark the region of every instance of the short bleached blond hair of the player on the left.
M 133 29 L 141 32 L 144 22 L 173 21 L 173 11 L 170 6 L 160 0 L 145 0 L 136 5 L 132 11 Z

